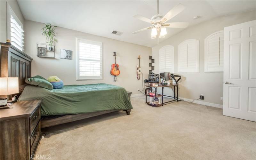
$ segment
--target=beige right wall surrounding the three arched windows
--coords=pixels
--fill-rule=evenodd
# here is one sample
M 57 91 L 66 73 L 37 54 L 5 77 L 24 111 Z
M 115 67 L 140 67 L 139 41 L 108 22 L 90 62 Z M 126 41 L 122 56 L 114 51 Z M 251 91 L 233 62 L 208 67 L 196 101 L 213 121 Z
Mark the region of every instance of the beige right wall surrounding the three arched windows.
M 182 76 L 182 80 L 179 85 L 179 96 L 188 99 L 198 99 L 200 94 L 204 94 L 205 102 L 222 104 L 220 97 L 223 97 L 223 72 L 204 73 L 204 39 L 216 31 L 223 30 L 224 27 L 255 19 L 255 11 L 218 17 L 187 28 L 186 30 L 166 39 L 164 42 L 152 48 L 152 56 L 155 59 L 155 72 L 158 73 L 159 49 L 165 45 L 172 45 L 174 46 L 174 73 Z M 197 39 L 200 41 L 199 73 L 177 73 L 178 45 L 186 39 Z

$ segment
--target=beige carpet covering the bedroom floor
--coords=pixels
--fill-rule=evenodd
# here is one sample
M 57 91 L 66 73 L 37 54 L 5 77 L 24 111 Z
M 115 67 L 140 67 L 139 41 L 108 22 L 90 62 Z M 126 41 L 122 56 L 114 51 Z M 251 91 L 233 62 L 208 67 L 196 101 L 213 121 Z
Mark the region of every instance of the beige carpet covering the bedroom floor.
M 124 111 L 44 129 L 36 154 L 51 159 L 253 159 L 256 123 L 189 102 Z

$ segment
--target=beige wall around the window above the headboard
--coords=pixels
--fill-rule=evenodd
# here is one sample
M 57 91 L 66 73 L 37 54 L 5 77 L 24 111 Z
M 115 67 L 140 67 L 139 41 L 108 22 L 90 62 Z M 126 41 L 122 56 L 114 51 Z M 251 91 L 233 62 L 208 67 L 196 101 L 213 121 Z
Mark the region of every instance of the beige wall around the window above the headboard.
M 24 17 L 20 11 L 20 7 L 17 1 L 6 1 L 6 0 L 0 0 L 0 41 L 6 42 L 6 3 L 8 3 L 12 10 L 14 11 L 15 15 L 19 18 L 20 22 L 24 25 Z M 26 45 L 26 44 L 25 44 Z

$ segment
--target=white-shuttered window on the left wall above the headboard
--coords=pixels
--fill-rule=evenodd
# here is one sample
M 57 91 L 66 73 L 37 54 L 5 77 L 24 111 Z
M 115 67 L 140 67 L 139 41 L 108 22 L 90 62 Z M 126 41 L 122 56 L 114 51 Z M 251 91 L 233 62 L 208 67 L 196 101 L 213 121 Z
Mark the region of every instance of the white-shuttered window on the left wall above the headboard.
M 19 50 L 23 51 L 24 47 L 24 31 L 23 25 L 7 3 L 7 38 L 11 40 L 11 44 Z

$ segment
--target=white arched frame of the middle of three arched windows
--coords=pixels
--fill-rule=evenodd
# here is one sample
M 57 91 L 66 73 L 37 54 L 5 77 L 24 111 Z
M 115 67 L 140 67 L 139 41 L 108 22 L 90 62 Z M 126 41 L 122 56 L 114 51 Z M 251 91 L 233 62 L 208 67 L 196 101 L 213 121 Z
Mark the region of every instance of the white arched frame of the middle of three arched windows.
M 195 68 L 195 70 L 194 71 L 188 71 L 188 70 L 185 70 L 185 71 L 181 71 L 180 70 L 180 47 L 183 45 L 183 44 L 185 44 L 185 43 L 188 43 L 188 41 L 191 41 L 191 40 L 193 40 L 193 41 L 195 41 L 196 42 L 196 68 Z M 200 52 L 199 52 L 199 50 L 200 50 L 200 48 L 199 48 L 200 46 L 199 46 L 199 40 L 197 40 L 197 39 L 187 39 L 187 40 L 185 40 L 185 41 L 183 41 L 183 42 L 181 42 L 179 45 L 178 45 L 178 73 L 199 73 L 199 64 L 200 64 Z M 188 52 L 188 51 L 187 51 Z M 183 69 L 184 70 L 184 69 Z

